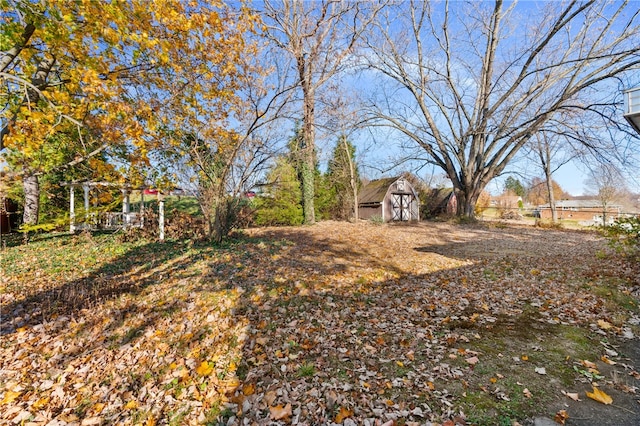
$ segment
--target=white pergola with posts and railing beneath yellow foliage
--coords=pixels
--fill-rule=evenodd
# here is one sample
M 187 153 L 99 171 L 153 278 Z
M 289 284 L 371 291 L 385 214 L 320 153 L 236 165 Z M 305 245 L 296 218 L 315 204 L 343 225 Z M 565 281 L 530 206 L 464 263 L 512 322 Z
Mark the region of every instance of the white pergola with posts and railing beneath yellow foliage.
M 87 221 L 90 211 L 90 194 L 91 190 L 98 187 L 118 188 L 122 192 L 122 212 L 104 212 L 102 229 L 122 229 L 122 228 L 142 228 L 144 226 L 144 190 L 147 188 L 132 188 L 130 186 L 118 185 L 112 182 L 63 182 L 63 186 L 69 187 L 69 232 L 83 229 L 95 229 L 98 221 L 92 224 Z M 76 202 L 75 190 L 82 188 L 84 194 L 84 212 L 85 218 L 83 223 L 76 223 Z M 131 211 L 130 195 L 132 192 L 140 192 L 140 211 Z M 164 196 L 158 192 L 158 227 L 160 240 L 164 240 Z M 97 215 L 96 219 L 99 219 Z

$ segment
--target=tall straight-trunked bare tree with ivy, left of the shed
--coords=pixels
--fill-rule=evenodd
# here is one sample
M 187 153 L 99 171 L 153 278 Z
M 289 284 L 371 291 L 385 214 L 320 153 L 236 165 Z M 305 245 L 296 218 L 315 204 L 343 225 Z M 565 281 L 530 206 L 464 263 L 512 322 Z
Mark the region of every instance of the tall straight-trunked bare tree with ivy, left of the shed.
M 265 1 L 267 34 L 297 69 L 302 90 L 302 201 L 306 224 L 315 222 L 316 97 L 348 66 L 347 59 L 381 6 L 367 1 Z

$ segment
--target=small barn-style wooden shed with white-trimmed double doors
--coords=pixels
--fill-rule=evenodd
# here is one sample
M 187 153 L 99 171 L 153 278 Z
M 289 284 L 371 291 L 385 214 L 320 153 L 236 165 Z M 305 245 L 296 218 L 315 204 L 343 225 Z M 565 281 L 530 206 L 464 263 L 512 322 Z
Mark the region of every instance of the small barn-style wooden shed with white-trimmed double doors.
M 413 186 L 403 177 L 369 182 L 358 196 L 360 219 L 380 218 L 383 222 L 420 219 L 420 200 Z

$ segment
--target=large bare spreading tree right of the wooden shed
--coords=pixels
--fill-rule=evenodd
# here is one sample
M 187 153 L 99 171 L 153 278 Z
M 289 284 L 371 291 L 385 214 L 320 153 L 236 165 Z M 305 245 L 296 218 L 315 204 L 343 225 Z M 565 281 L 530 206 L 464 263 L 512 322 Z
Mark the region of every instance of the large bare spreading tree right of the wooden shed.
M 393 90 L 372 100 L 373 117 L 424 150 L 451 179 L 458 214 L 473 216 L 536 132 L 598 109 L 590 98 L 640 64 L 639 21 L 628 1 L 400 2 L 368 38 L 366 64 Z

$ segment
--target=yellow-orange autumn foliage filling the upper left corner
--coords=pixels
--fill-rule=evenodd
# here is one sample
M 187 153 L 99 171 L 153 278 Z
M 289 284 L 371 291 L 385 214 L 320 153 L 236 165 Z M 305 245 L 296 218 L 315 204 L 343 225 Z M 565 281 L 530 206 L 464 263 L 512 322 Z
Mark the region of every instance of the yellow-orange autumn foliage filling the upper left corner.
M 109 152 L 122 157 L 124 172 L 151 166 L 149 156 L 163 149 L 162 123 L 196 128 L 204 120 L 216 123 L 205 131 L 215 134 L 236 102 L 238 61 L 252 52 L 245 33 L 258 21 L 235 7 L 0 3 L 3 43 L 17 49 L 0 63 L 0 96 L 9 101 L 0 148 L 11 149 L 9 164 L 18 173 L 46 173 L 117 147 Z M 70 155 L 43 155 L 54 148 Z

